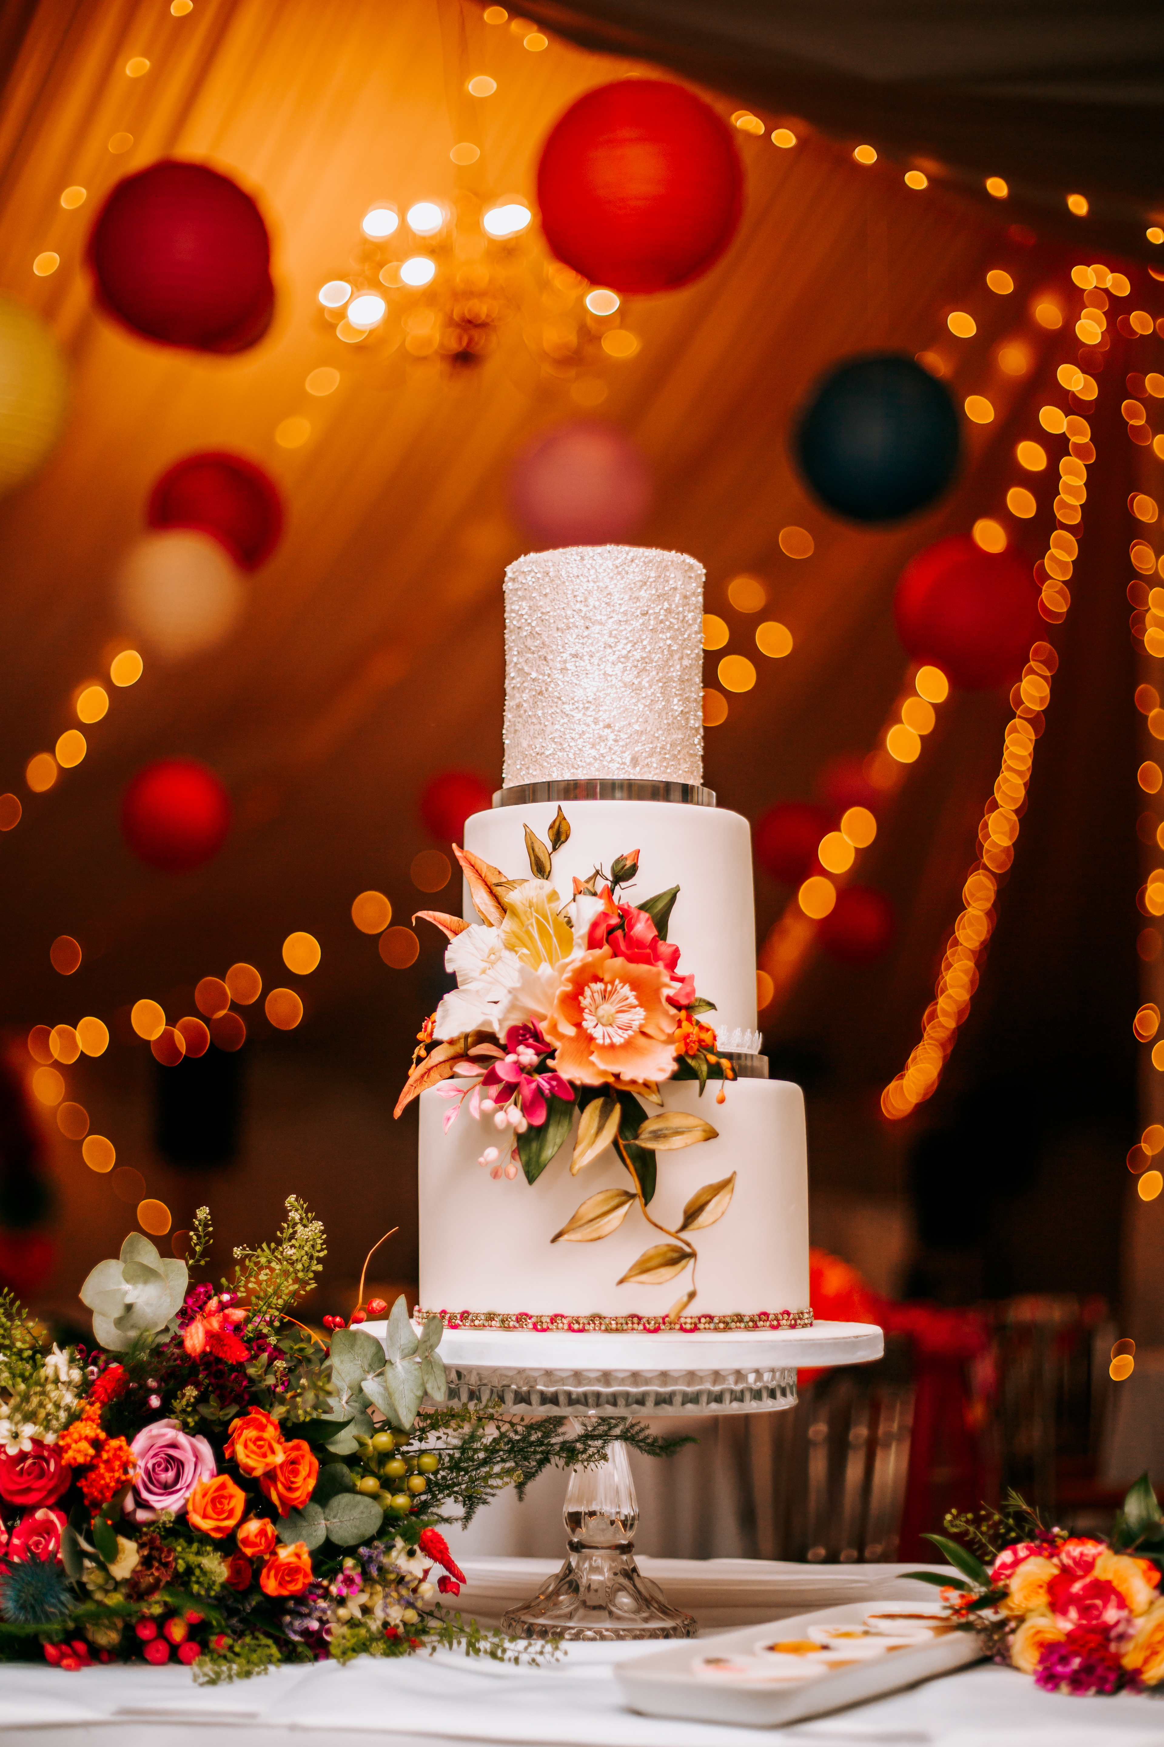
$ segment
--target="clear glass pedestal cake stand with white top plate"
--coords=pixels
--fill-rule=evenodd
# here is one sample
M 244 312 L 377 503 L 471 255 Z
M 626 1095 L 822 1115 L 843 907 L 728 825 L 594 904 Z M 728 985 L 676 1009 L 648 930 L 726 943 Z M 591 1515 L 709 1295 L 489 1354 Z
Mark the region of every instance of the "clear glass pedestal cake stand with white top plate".
M 448 1399 L 511 1413 L 682 1417 L 775 1413 L 796 1406 L 798 1366 L 880 1359 L 869 1322 L 733 1333 L 532 1333 L 447 1328 L 440 1352 Z M 627 1448 L 576 1467 L 565 1488 L 565 1564 L 503 1630 L 527 1639 L 693 1637 L 691 1614 L 672 1607 L 633 1560 L 639 1501 Z

